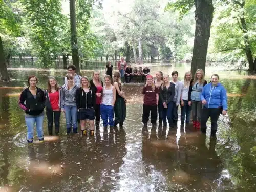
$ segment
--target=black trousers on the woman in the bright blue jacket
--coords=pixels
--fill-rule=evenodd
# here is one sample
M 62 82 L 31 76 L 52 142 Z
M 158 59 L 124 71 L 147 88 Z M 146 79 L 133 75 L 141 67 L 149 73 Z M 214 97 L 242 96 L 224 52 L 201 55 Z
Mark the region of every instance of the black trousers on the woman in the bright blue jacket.
M 222 108 L 203 108 L 202 109 L 202 116 L 201 116 L 201 131 L 202 133 L 206 133 L 206 123 L 210 117 L 211 122 L 211 136 L 215 136 L 215 133 L 218 129 L 218 119 L 222 112 Z

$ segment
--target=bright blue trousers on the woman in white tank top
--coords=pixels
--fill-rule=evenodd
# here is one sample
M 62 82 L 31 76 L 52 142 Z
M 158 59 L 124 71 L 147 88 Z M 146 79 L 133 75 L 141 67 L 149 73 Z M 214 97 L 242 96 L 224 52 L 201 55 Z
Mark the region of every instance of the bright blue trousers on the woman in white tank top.
M 112 105 L 100 105 L 100 115 L 103 120 L 103 126 L 107 127 L 108 124 L 110 126 L 114 126 L 114 108 Z M 108 122 L 109 119 L 109 122 Z

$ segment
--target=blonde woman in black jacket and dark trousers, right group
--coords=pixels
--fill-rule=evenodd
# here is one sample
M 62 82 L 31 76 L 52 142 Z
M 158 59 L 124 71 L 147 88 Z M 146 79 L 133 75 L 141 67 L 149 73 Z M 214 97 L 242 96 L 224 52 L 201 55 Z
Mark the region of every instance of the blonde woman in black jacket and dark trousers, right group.
M 162 103 L 162 115 L 163 115 L 163 127 L 166 129 L 168 119 L 169 127 L 173 127 L 173 108 L 174 102 L 173 98 L 175 96 L 175 84 L 170 82 L 169 75 L 163 76 L 163 83 L 160 86 L 160 100 Z

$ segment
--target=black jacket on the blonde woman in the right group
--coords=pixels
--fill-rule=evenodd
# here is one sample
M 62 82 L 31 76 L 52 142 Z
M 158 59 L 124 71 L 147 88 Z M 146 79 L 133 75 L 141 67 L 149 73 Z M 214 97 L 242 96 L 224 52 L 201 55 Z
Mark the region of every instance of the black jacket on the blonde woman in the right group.
M 162 103 L 168 104 L 170 101 L 173 101 L 175 95 L 175 84 L 170 82 L 170 86 L 168 89 L 166 89 L 166 86 L 162 88 L 162 85 L 160 86 L 160 100 Z

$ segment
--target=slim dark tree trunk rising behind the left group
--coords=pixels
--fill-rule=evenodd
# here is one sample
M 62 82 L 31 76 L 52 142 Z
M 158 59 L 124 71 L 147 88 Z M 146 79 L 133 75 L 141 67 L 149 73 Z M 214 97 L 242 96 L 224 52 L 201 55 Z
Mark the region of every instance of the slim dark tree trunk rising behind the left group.
M 69 1 L 70 8 L 70 29 L 71 29 L 71 50 L 73 65 L 76 66 L 76 73 L 80 74 L 78 45 L 77 45 L 77 32 L 76 32 L 76 6 L 75 0 Z

